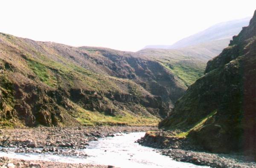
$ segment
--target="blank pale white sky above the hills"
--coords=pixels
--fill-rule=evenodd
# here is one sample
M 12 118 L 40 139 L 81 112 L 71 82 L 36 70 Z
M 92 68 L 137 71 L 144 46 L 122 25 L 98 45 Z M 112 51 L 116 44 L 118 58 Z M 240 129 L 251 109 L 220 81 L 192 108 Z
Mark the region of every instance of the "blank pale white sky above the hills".
M 0 32 L 137 51 L 253 16 L 256 0 L 1 0 Z

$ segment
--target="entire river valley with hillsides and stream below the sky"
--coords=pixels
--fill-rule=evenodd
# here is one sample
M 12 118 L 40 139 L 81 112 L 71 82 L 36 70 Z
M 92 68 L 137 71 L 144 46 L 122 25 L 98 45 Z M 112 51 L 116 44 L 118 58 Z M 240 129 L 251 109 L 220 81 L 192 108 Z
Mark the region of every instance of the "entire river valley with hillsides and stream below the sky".
M 255 48 L 256 11 L 137 52 L 0 33 L 0 166 L 256 167 Z

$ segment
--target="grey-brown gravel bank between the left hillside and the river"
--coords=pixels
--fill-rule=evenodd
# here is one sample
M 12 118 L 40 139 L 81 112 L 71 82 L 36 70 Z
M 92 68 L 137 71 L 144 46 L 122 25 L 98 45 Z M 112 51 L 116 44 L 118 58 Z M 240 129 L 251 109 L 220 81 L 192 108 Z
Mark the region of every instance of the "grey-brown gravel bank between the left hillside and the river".
M 27 129 L 1 129 L 0 151 L 15 153 L 50 153 L 53 155 L 86 158 L 84 149 L 88 142 L 102 137 L 113 137 L 116 133 L 146 132 L 154 126 L 81 126 L 81 127 L 37 127 Z M 118 135 L 118 134 L 117 134 Z

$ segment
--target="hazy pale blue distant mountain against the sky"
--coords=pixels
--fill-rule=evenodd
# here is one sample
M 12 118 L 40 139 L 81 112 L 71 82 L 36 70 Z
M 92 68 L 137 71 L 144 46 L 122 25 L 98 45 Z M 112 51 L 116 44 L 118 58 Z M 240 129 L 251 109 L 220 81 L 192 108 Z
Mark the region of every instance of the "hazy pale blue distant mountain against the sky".
M 180 41 L 175 42 L 173 45 L 147 45 L 143 49 L 180 49 L 221 39 L 226 39 L 226 41 L 229 42 L 229 40 L 232 39 L 232 36 L 239 34 L 242 27 L 247 26 L 249 24 L 250 18 L 251 17 L 246 17 L 239 20 L 231 20 L 228 22 L 218 23 L 207 28 L 204 31 L 198 32 L 197 34 L 181 39 Z M 227 44 L 225 44 L 225 46 L 228 45 L 228 42 Z

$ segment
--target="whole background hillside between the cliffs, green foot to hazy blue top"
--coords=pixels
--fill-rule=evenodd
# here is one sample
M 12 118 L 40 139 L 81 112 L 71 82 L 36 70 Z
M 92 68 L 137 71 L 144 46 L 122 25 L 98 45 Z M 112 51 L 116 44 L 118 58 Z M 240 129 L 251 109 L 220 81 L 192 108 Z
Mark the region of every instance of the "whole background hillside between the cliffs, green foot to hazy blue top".
M 249 23 L 249 18 L 219 23 L 174 45 L 151 45 L 137 52 L 143 58 L 153 59 L 189 87 L 203 76 L 207 61 L 227 47 L 233 35 Z

